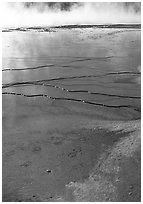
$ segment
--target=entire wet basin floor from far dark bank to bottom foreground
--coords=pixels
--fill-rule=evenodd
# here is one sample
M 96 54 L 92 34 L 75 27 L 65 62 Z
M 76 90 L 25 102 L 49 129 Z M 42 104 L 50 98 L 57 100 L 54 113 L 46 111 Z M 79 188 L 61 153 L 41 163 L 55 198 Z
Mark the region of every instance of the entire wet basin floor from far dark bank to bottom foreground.
M 140 30 L 55 31 L 3 33 L 3 201 L 140 201 Z

